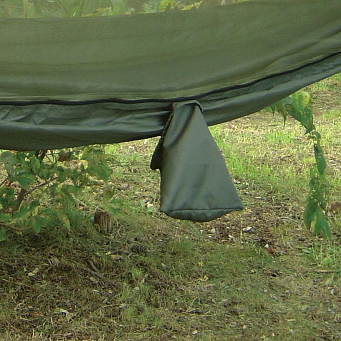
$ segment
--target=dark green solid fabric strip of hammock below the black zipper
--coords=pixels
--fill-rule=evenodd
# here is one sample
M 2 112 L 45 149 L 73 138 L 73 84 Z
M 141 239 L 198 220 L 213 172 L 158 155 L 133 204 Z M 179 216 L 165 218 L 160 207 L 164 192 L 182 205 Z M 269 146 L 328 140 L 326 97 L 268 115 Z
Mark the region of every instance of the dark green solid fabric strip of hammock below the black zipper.
M 206 123 L 252 114 L 322 78 L 341 72 L 341 54 L 312 66 L 198 98 Z M 58 149 L 159 136 L 172 111 L 170 101 L 0 105 L 0 148 Z

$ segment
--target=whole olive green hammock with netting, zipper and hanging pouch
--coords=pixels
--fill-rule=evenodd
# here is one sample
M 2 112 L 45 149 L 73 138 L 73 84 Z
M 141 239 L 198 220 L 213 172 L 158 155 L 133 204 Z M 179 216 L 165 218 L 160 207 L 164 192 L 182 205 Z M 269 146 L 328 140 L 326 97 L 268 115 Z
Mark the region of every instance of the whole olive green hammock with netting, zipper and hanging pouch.
M 242 205 L 208 125 L 341 72 L 341 0 L 0 19 L 0 149 L 162 135 L 161 210 L 208 221 Z

